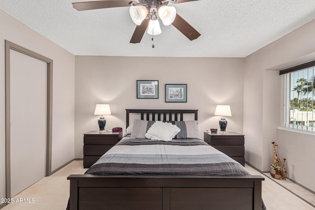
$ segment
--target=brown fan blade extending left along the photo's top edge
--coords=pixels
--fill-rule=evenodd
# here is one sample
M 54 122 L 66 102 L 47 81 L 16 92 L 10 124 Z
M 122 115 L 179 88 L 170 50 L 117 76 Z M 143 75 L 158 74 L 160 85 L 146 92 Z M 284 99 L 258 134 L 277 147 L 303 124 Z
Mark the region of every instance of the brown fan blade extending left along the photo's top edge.
M 98 1 L 85 1 L 72 3 L 73 8 L 78 11 L 103 9 L 112 7 L 130 6 L 132 0 L 98 0 Z

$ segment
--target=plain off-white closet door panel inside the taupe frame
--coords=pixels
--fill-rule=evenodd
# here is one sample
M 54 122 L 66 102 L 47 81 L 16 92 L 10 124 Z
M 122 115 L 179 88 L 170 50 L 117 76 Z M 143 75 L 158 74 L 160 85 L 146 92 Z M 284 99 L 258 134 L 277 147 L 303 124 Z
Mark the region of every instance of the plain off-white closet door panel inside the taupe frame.
M 46 175 L 47 63 L 10 50 L 11 197 Z

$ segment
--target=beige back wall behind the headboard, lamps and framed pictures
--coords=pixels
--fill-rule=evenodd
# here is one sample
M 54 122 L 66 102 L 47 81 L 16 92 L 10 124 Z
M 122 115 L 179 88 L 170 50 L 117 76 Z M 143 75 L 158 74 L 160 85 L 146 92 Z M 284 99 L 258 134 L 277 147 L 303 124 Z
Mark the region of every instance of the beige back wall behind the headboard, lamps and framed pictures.
M 109 103 L 105 129 L 126 129 L 125 109 L 199 109 L 200 134 L 219 128 L 217 104 L 229 104 L 227 131 L 243 131 L 244 59 L 75 57 L 75 157 L 83 157 L 83 134 L 98 130 L 96 103 Z M 159 80 L 158 99 L 137 99 L 136 80 Z M 187 84 L 187 103 L 165 103 L 165 84 Z

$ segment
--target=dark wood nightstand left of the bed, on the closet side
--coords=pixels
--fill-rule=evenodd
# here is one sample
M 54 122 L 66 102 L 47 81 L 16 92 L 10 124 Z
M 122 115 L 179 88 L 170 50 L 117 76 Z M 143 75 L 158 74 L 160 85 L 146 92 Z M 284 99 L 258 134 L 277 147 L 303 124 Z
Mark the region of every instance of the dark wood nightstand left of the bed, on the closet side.
M 90 131 L 84 134 L 83 168 L 90 168 L 106 151 L 123 138 L 123 132 L 97 133 Z

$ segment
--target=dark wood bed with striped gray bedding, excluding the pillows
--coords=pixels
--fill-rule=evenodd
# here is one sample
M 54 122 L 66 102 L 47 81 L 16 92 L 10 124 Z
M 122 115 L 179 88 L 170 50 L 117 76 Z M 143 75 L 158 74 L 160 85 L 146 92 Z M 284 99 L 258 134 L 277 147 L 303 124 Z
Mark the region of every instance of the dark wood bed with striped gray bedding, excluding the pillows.
M 155 120 L 179 125 L 187 123 L 184 121 L 184 115 L 193 115 L 190 121 L 195 121 L 197 111 L 127 109 L 126 127 L 129 126 L 130 114 L 134 113 L 140 116 L 140 120 L 148 121 L 147 127 L 150 127 L 149 121 Z M 144 123 L 142 121 L 141 123 Z M 186 135 L 190 135 L 189 132 L 187 133 Z M 141 148 L 140 151 L 138 147 Z M 174 147 L 175 149 L 172 149 Z M 178 148 L 186 150 L 189 154 L 185 153 L 185 156 L 178 158 L 181 155 L 176 153 Z M 158 152 L 152 154 L 147 152 L 148 150 L 158 150 Z M 215 159 L 220 159 L 219 162 L 225 159 L 224 167 L 226 166 L 228 170 L 222 171 L 222 165 L 218 167 L 218 161 L 209 158 L 209 155 L 202 152 L 203 150 L 212 150 Z M 131 155 L 133 151 L 135 154 Z M 147 153 L 148 156 L 140 156 L 143 153 Z M 171 158 L 165 160 L 164 156 Z M 176 158 L 172 159 L 173 156 Z M 194 162 L 194 156 L 201 157 L 202 164 Z M 129 162 L 124 162 L 123 159 Z M 149 161 L 149 167 L 145 170 L 142 159 Z M 182 159 L 188 160 L 189 164 L 178 162 Z M 235 171 L 238 175 L 235 175 Z M 261 181 L 264 178 L 250 175 L 239 163 L 200 139 L 180 138 L 165 142 L 126 136 L 106 152 L 86 174 L 70 175 L 67 179 L 70 180 L 70 210 L 261 210 L 265 208 L 261 199 Z

